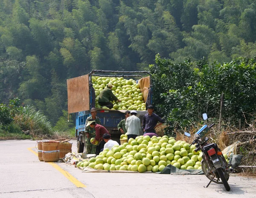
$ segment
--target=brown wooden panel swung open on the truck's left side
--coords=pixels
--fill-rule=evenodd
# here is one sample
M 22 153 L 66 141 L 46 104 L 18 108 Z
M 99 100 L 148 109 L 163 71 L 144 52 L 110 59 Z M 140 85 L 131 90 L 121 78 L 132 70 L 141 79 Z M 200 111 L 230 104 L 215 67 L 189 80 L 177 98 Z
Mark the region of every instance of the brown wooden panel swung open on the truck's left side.
M 90 110 L 89 75 L 67 79 L 68 113 Z

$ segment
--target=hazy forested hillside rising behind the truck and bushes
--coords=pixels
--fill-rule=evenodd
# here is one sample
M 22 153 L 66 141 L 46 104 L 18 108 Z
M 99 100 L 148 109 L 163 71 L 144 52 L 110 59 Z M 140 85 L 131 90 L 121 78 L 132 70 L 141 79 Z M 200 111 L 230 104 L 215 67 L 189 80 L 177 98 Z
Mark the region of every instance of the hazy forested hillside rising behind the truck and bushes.
M 256 56 L 254 0 L 0 0 L 0 100 L 19 97 L 54 124 L 67 78 Z

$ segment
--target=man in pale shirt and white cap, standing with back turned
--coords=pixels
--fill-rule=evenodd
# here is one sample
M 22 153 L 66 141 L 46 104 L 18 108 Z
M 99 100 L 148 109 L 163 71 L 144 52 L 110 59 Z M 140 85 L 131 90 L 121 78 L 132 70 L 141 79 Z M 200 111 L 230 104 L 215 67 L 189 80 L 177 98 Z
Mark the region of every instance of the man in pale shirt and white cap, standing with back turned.
M 137 115 L 137 111 L 132 110 L 131 116 L 126 118 L 125 128 L 127 130 L 127 141 L 130 138 L 135 139 L 137 136 L 140 135 L 140 131 L 141 131 L 140 118 L 138 118 L 136 115 Z

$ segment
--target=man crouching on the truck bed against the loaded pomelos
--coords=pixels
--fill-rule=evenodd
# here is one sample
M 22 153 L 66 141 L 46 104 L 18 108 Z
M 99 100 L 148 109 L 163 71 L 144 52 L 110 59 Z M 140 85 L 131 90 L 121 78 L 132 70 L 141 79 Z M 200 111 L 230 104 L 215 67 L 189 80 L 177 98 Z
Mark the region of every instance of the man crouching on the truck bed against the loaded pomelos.
M 112 93 L 112 84 L 108 83 L 107 87 L 105 87 L 100 93 L 99 93 L 99 104 L 101 106 L 106 106 L 109 109 L 113 108 L 113 103 L 111 101 L 115 100 L 118 102 L 121 102 L 121 100 L 118 100 L 116 96 Z

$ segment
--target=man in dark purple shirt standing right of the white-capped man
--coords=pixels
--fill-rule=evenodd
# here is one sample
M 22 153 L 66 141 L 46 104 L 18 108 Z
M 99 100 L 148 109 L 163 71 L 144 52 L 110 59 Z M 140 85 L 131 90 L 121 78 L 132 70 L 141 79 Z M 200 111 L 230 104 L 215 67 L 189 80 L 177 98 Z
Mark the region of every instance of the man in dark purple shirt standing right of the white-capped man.
M 154 106 L 148 105 L 148 113 L 144 115 L 143 122 L 142 122 L 142 129 L 144 134 L 145 133 L 156 133 L 155 128 L 160 126 L 164 123 L 164 120 L 160 118 L 158 115 L 153 113 Z M 157 124 L 160 122 L 159 124 Z

